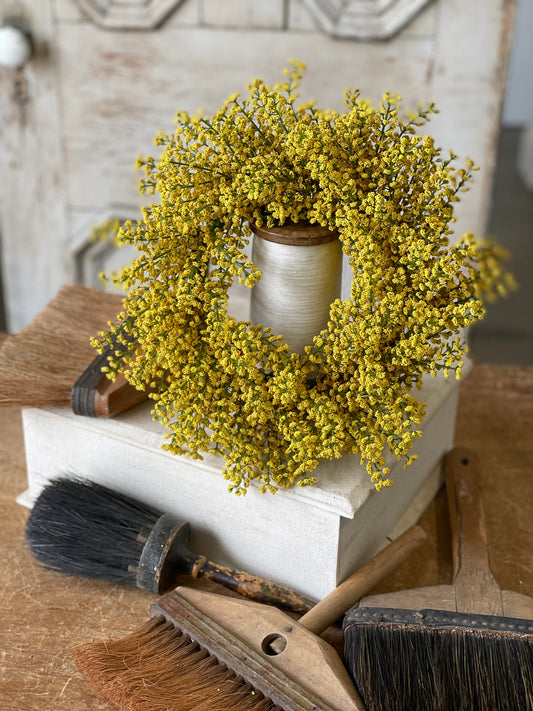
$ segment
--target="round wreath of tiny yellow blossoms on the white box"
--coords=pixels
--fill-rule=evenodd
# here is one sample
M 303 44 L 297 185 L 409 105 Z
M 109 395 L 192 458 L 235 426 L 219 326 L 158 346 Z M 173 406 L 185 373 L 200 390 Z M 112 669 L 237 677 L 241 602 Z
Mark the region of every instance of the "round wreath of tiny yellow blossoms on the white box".
M 225 460 L 230 490 L 314 483 L 322 458 L 358 454 L 377 489 L 387 452 L 409 464 L 424 405 L 424 373 L 460 375 L 462 329 L 483 316 L 483 294 L 505 289 L 497 248 L 449 240 L 454 204 L 475 167 L 417 128 L 433 105 L 402 119 L 346 93 L 346 111 L 297 104 L 303 67 L 284 84 L 261 80 L 212 116 L 178 113 L 159 159 L 139 159 L 142 190 L 159 201 L 120 240 L 138 257 L 116 278 L 126 290 L 109 375 L 156 388 L 164 447 Z M 349 260 L 350 298 L 331 305 L 305 353 L 282 334 L 227 311 L 235 279 L 261 277 L 246 255 L 250 224 L 309 220 L 336 229 Z

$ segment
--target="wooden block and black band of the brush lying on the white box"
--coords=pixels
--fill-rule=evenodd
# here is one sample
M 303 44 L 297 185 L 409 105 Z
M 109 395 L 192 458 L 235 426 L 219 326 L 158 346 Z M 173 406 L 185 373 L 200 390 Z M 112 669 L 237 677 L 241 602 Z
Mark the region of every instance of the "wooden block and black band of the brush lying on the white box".
M 122 374 L 113 382 L 102 368 L 110 349 L 98 355 L 80 375 L 71 391 L 72 410 L 85 417 L 114 417 L 144 402 L 150 390 L 137 390 Z

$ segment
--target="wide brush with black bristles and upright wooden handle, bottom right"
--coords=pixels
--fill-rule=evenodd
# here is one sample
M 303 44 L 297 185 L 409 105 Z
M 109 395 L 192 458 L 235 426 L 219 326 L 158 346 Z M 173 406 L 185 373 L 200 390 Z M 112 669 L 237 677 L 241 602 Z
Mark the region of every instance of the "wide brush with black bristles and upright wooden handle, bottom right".
M 492 576 L 480 462 L 445 458 L 453 585 L 374 595 L 344 619 L 344 657 L 368 711 L 531 711 L 533 598 Z

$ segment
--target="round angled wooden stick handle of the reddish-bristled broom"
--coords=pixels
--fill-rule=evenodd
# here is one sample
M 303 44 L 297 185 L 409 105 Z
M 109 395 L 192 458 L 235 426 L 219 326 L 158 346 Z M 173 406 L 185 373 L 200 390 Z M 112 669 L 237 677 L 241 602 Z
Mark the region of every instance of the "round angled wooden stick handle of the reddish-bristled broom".
M 317 603 L 298 622 L 320 634 L 366 595 L 382 578 L 392 572 L 424 543 L 427 535 L 420 526 L 411 526 L 395 541 L 371 558 L 357 572 Z

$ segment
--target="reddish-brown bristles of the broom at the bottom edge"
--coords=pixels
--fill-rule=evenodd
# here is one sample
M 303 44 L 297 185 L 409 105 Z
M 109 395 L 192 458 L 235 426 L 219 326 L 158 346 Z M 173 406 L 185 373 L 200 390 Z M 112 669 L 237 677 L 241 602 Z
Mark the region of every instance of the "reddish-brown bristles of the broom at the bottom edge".
M 92 691 L 121 711 L 278 711 L 163 616 L 121 640 L 75 649 Z

